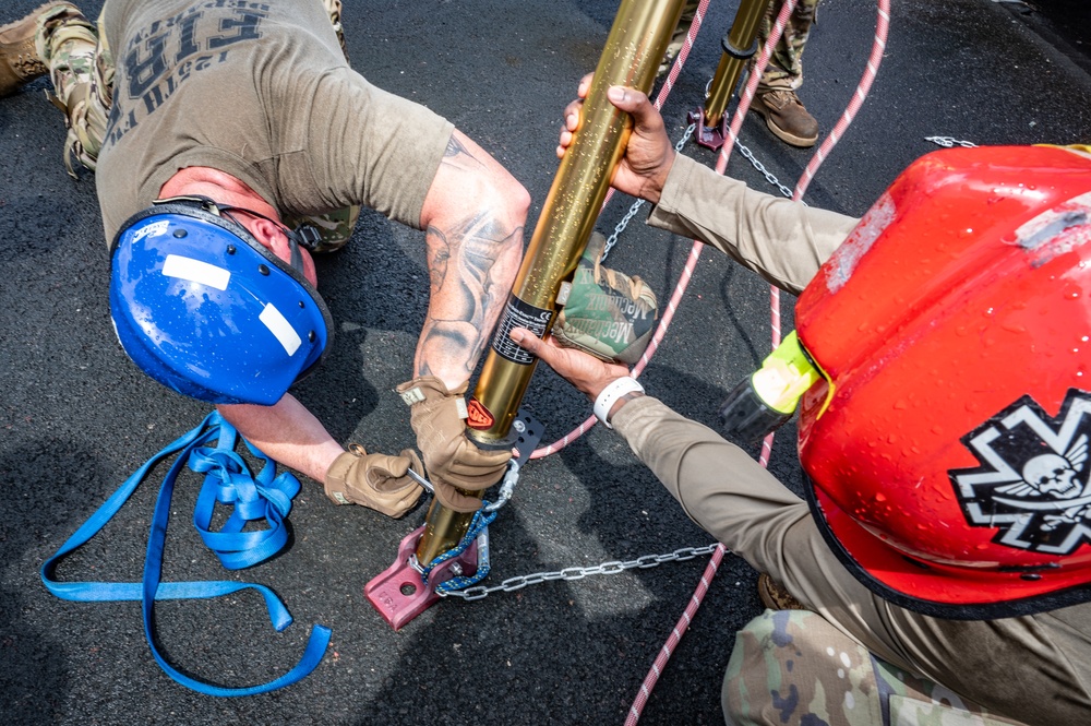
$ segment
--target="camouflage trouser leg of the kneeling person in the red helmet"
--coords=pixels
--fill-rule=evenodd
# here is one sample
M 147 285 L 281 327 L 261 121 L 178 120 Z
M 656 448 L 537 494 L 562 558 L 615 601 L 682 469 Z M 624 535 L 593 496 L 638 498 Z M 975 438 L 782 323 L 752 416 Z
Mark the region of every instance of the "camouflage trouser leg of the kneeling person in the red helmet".
M 721 693 L 729 726 L 999 726 L 810 610 L 766 610 L 735 635 Z

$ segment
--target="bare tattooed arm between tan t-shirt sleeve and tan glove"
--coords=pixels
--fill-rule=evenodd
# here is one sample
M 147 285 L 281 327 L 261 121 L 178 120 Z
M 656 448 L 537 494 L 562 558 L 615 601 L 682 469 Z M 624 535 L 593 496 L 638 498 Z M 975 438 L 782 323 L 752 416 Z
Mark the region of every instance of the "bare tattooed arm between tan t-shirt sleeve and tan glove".
M 496 323 L 523 258 L 530 195 L 457 129 L 421 210 L 432 291 L 413 376 L 465 382 Z

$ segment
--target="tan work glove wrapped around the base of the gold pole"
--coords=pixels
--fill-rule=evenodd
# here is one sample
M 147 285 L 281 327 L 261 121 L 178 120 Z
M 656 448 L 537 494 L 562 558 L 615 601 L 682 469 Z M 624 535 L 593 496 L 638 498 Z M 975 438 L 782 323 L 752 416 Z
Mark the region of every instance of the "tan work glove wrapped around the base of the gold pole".
M 512 457 L 508 449 L 485 451 L 466 438 L 466 384 L 447 391 L 434 376 L 422 376 L 395 389 L 409 404 L 409 422 L 424 457 L 435 497 L 456 512 L 476 512 L 482 491 L 500 481 Z

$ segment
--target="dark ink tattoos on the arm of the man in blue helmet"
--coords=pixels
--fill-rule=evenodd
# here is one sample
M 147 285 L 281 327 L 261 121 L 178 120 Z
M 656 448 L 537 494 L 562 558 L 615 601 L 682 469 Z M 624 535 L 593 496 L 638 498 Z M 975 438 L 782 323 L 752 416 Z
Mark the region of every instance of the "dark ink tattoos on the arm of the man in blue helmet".
M 444 165 L 479 174 L 482 165 L 452 136 Z M 523 227 L 503 210 L 467 210 L 441 228 L 425 230 L 431 301 L 417 356 L 417 376 L 443 365 L 469 376 L 489 343 L 521 250 Z

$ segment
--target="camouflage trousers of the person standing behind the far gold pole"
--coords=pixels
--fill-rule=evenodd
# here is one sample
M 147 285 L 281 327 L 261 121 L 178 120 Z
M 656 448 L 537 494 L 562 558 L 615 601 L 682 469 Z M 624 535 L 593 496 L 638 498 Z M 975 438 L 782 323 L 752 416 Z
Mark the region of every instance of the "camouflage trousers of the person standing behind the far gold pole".
M 682 50 L 682 44 L 685 43 L 685 36 L 690 32 L 694 14 L 697 12 L 697 0 L 687 0 L 685 8 L 682 10 L 682 19 L 674 29 L 670 45 L 667 46 L 667 56 L 663 58 L 664 64 L 673 62 L 679 51 Z M 758 52 L 762 51 L 766 40 L 772 34 L 772 24 L 776 22 L 777 15 L 780 14 L 780 9 L 783 5 L 783 0 L 770 1 L 769 9 L 766 11 L 765 17 L 757 28 Z M 762 81 L 758 83 L 759 90 L 794 90 L 803 85 L 803 47 L 807 43 L 807 36 L 811 35 L 811 26 L 814 24 L 817 8 L 818 0 L 799 0 L 795 3 L 795 9 L 792 11 L 792 14 L 788 19 L 788 24 L 784 26 L 784 33 L 777 41 L 777 46 L 769 57 L 769 63 L 762 73 Z M 751 61 L 751 68 L 753 68 L 753 63 L 756 60 L 757 55 Z

